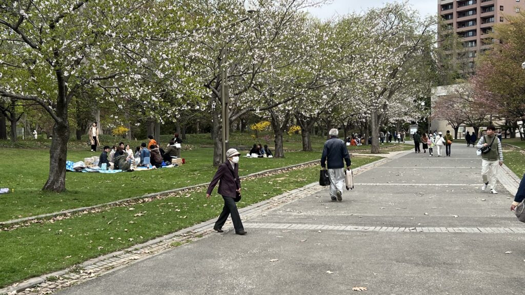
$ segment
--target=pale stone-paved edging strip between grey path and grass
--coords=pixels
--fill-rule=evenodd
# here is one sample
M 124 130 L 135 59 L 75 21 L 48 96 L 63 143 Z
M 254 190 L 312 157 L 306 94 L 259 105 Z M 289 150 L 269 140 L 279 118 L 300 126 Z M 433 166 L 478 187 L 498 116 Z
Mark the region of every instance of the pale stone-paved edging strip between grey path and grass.
M 353 169 L 355 175 L 358 175 L 364 171 L 367 171 L 377 165 L 381 165 L 385 162 L 397 159 L 400 155 L 409 153 L 403 152 L 395 154 L 390 158 L 384 158 L 375 162 L 365 164 L 363 166 Z M 318 160 L 316 161 L 318 162 Z M 247 176 L 246 176 L 247 177 Z M 265 201 L 244 207 L 239 209 L 239 213 L 243 220 L 249 219 L 254 216 L 260 216 L 269 210 L 273 210 L 281 207 L 282 205 L 288 204 L 296 199 L 303 198 L 306 195 L 317 193 L 323 189 L 318 183 L 311 183 L 306 186 L 293 189 L 292 191 L 283 193 L 281 195 L 272 197 Z M 306 193 L 305 193 L 306 192 Z M 229 220 L 229 219 L 228 219 Z M 102 276 L 105 273 L 114 271 L 129 264 L 148 259 L 155 255 L 159 255 L 162 252 L 169 250 L 173 247 L 181 246 L 191 241 L 208 236 L 209 234 L 215 233 L 213 226 L 215 218 L 207 220 L 206 222 L 196 224 L 192 227 L 188 227 L 175 233 L 165 235 L 153 240 L 146 241 L 145 243 L 135 245 L 128 249 L 116 251 L 98 258 L 90 259 L 72 268 L 61 270 L 53 273 L 49 273 L 40 277 L 31 278 L 23 283 L 15 284 L 16 286 L 9 286 L 4 289 L 0 289 L 0 295 L 4 294 L 49 294 L 53 291 L 67 288 L 72 285 L 76 285 L 81 282 L 85 282 L 92 278 Z M 265 224 L 265 226 L 271 226 Z M 300 225 L 290 225 L 300 226 Z M 316 226 L 316 227 L 323 227 Z M 229 231 L 232 228 L 231 221 L 227 222 L 227 225 L 223 227 L 225 231 Z M 53 280 L 50 280 L 52 278 Z

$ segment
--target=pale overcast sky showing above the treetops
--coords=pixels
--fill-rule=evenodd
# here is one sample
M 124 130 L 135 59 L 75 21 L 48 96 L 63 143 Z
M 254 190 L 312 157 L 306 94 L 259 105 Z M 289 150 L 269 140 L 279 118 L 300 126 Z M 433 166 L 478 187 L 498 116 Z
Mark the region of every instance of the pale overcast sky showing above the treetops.
M 321 19 L 328 19 L 334 15 L 345 15 L 351 12 L 363 12 L 371 7 L 381 7 L 384 3 L 394 0 L 333 0 L 332 4 L 308 9 L 311 14 Z M 400 2 L 400 1 L 397 1 Z M 422 16 L 437 13 L 437 0 L 409 0 L 409 4 L 419 10 Z

